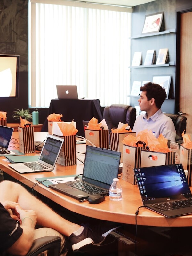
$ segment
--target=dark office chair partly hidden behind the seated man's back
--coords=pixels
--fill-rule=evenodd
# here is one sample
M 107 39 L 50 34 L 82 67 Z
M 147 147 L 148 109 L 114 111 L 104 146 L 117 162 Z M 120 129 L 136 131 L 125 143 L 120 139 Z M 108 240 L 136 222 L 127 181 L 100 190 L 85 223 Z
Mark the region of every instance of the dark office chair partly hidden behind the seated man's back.
M 186 132 L 186 125 L 187 125 L 187 118 L 185 116 L 181 116 L 179 114 L 165 114 L 166 116 L 170 117 L 173 121 L 173 124 L 175 126 L 176 130 L 176 137 L 175 137 L 175 142 L 177 142 L 180 146 L 180 144 L 183 143 L 183 137 L 182 133 Z

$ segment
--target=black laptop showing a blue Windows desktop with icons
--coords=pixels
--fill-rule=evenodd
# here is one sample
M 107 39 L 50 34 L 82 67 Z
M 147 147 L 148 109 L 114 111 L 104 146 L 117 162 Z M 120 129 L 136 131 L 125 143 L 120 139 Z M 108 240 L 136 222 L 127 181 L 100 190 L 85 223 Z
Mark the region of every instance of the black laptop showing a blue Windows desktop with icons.
M 134 168 L 143 205 L 166 217 L 192 213 L 192 195 L 182 164 Z

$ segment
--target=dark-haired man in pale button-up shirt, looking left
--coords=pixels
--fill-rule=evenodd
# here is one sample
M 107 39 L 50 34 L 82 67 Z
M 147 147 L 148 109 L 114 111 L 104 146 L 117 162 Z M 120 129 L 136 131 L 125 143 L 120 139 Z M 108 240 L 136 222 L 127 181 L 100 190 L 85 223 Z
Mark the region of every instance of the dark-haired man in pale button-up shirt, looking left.
M 137 117 L 132 131 L 138 133 L 148 129 L 156 138 L 162 133 L 166 139 L 175 142 L 176 131 L 173 121 L 161 111 L 161 105 L 167 97 L 165 89 L 159 84 L 148 82 L 141 86 L 140 90 L 140 110 L 146 113 Z

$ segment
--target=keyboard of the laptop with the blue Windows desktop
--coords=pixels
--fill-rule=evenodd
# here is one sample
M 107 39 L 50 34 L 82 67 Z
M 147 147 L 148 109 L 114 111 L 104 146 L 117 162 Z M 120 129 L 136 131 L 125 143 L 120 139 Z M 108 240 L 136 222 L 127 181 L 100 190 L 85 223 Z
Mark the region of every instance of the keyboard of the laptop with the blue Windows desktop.
M 153 206 L 156 209 L 164 212 L 168 210 L 190 207 L 192 206 L 192 198 L 187 198 L 187 199 L 177 200 L 177 201 L 170 201 L 170 202 L 168 201 L 168 202 L 157 203 L 157 204 L 150 204 L 150 206 Z

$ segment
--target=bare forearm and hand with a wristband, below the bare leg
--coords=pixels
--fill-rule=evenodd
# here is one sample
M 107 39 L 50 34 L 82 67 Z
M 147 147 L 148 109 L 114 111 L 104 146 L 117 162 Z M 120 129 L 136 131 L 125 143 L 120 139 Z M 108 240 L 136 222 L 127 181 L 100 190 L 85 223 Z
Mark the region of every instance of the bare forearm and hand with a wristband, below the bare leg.
M 36 225 L 36 214 L 33 210 L 22 210 L 19 205 L 16 211 L 20 216 L 20 227 L 23 233 L 20 238 L 7 250 L 13 255 L 26 255 L 34 241 L 34 232 Z

